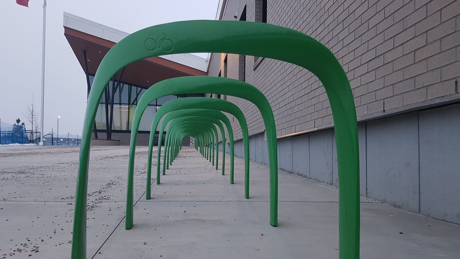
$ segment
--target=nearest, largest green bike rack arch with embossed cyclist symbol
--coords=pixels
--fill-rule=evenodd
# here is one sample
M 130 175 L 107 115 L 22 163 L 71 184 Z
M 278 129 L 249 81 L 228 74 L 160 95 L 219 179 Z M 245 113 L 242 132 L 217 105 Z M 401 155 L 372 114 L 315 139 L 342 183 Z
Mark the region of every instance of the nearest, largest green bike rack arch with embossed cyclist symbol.
M 159 32 L 165 38 L 157 38 L 156 40 L 161 40 L 161 44 L 156 44 L 155 36 L 152 35 L 158 35 Z M 182 21 L 141 29 L 119 41 L 105 55 L 94 77 L 86 105 L 75 193 L 72 258 L 86 258 L 89 149 L 98 103 L 106 84 L 122 67 L 140 59 L 165 54 L 203 52 L 245 54 L 278 59 L 299 65 L 319 78 L 328 94 L 334 118 L 339 175 L 339 257 L 359 258 L 357 118 L 353 94 L 345 71 L 327 47 L 301 32 L 272 24 L 220 20 Z M 163 89 L 165 93 L 159 95 L 176 94 L 178 93 L 176 90 L 178 89 L 174 87 Z M 206 92 L 226 94 L 213 90 Z M 266 99 L 262 102 L 266 103 Z M 269 115 L 270 106 L 261 105 L 262 103 L 257 101 L 256 106 L 261 110 L 265 123 L 269 153 L 270 224 L 276 226 L 278 171 L 276 131 L 273 116 L 270 118 Z M 134 130 L 137 131 L 137 128 Z

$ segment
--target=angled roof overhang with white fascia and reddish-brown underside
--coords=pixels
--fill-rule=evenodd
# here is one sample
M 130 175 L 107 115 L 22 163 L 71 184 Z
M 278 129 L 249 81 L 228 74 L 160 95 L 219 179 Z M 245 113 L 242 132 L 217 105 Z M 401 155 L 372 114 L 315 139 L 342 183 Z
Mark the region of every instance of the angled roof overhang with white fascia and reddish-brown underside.
M 83 70 L 86 52 L 88 73 L 94 75 L 109 49 L 128 34 L 64 13 L 64 35 Z M 168 78 L 206 76 L 206 69 L 207 60 L 192 54 L 152 57 L 127 65 L 121 81 L 149 88 Z

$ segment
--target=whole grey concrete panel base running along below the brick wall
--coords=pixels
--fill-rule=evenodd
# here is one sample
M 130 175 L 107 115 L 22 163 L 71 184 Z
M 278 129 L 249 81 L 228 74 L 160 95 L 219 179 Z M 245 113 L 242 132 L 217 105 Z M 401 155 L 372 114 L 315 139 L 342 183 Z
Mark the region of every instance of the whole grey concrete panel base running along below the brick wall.
M 459 129 L 460 104 L 358 124 L 360 193 L 460 223 L 460 199 L 455 191 L 460 182 Z M 264 134 L 252 139 L 256 161 L 260 156 L 268 164 Z M 277 147 L 280 169 L 337 185 L 334 130 L 279 139 Z M 242 148 L 242 141 L 236 141 L 237 156 L 243 155 Z

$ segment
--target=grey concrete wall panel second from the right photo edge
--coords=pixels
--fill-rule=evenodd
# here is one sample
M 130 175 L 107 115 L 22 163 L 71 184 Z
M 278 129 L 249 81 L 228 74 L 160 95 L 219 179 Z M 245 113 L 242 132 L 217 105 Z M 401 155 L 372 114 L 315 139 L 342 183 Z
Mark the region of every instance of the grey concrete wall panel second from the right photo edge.
M 367 122 L 368 196 L 419 212 L 418 115 Z

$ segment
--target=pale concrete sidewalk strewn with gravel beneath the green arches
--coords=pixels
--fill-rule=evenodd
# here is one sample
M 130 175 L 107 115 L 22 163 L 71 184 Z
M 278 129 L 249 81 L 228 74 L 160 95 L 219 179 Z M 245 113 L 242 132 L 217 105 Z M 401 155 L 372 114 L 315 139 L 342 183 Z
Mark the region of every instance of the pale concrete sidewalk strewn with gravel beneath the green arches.
M 78 151 L 0 147 L 0 258 L 70 256 Z M 221 159 L 215 170 L 188 147 L 161 185 L 153 182 L 152 200 L 144 197 L 147 149 L 137 148 L 138 202 L 125 230 L 128 151 L 92 147 L 88 258 L 338 258 L 337 188 L 280 171 L 279 224 L 271 227 L 267 166 L 250 164 L 246 200 L 243 159 L 230 184 L 228 154 L 222 176 Z M 459 244 L 460 225 L 362 198 L 361 258 L 460 258 Z

